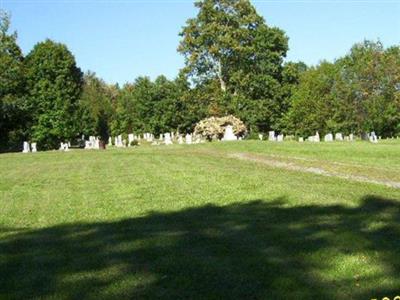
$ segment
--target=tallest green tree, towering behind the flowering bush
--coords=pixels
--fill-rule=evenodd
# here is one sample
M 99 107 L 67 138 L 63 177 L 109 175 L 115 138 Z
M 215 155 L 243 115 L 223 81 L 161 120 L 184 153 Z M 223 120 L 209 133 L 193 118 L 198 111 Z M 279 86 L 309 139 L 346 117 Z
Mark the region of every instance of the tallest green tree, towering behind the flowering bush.
M 254 130 L 270 128 L 282 101 L 283 31 L 267 26 L 248 0 L 195 5 L 199 12 L 187 21 L 178 47 L 184 72 L 196 85 L 211 85 L 210 112 L 233 113 Z

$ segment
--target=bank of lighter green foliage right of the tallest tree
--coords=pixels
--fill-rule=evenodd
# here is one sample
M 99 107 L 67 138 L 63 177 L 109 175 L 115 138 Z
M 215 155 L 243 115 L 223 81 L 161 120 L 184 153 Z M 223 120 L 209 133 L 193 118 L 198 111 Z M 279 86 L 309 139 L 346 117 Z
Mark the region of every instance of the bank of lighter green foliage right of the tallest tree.
M 377 42 L 356 44 L 335 63 L 306 71 L 291 97 L 286 130 L 382 136 L 400 133 L 400 48 Z

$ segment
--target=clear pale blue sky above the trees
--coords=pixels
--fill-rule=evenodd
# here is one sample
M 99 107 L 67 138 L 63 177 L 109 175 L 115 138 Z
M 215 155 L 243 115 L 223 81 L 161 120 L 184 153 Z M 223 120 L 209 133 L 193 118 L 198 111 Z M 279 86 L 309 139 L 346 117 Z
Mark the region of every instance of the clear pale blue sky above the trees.
M 287 61 L 315 65 L 364 39 L 400 45 L 400 0 L 253 0 L 267 24 L 289 37 Z M 179 32 L 192 0 L 0 0 L 27 54 L 46 38 L 65 43 L 83 71 L 108 83 L 175 78 L 184 64 Z

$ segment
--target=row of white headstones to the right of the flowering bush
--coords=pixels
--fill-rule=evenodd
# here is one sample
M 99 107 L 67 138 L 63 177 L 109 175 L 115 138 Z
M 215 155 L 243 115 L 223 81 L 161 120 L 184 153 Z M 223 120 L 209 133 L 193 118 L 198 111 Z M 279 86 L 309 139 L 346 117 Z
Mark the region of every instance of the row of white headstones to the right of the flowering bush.
M 259 134 L 258 135 L 260 140 L 263 140 L 263 135 Z M 284 140 L 284 135 L 283 134 L 279 134 L 276 135 L 275 131 L 270 131 L 268 133 L 268 141 L 270 142 L 283 142 Z M 321 138 L 319 136 L 318 131 L 315 133 L 315 135 L 309 136 L 306 139 L 308 142 L 314 142 L 314 143 L 318 143 L 321 141 Z M 348 136 L 343 136 L 342 133 L 336 133 L 335 134 L 335 138 L 333 138 L 333 134 L 332 133 L 328 133 L 324 136 L 324 141 L 325 142 L 333 142 L 334 140 L 336 141 L 348 141 L 348 142 L 352 142 L 354 141 L 354 134 L 350 134 Z M 371 143 L 377 143 L 378 142 L 378 137 L 376 136 L 375 132 L 371 132 L 369 134 L 366 135 L 366 138 L 363 137 L 363 140 L 369 140 Z M 299 138 L 299 142 L 304 142 L 304 138 L 300 137 Z

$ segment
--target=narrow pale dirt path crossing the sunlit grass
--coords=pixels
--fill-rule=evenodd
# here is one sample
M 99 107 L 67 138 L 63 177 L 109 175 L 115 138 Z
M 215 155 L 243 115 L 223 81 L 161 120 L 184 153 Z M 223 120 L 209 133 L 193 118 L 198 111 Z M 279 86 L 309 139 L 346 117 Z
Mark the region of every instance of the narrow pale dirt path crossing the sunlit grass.
M 353 181 L 358 181 L 358 182 L 380 184 L 380 185 L 385 185 L 385 186 L 388 186 L 391 188 L 400 189 L 400 182 L 396 182 L 396 181 L 380 180 L 380 179 L 374 179 L 374 178 L 370 178 L 370 177 L 366 177 L 366 176 L 351 175 L 351 174 L 345 174 L 345 173 L 340 173 L 340 172 L 327 171 L 322 168 L 316 168 L 316 167 L 305 167 L 305 166 L 297 165 L 292 162 L 283 162 L 283 161 L 279 161 L 279 160 L 269 158 L 266 156 L 262 156 L 262 155 L 255 155 L 255 154 L 250 154 L 250 153 L 234 153 L 234 154 L 230 154 L 229 157 L 240 159 L 240 160 L 253 161 L 253 162 L 261 163 L 261 164 L 264 164 L 264 165 L 267 165 L 270 167 L 281 168 L 281 169 L 290 170 L 290 171 L 313 173 L 313 174 L 329 176 L 329 177 L 338 177 L 338 178 L 342 178 L 342 179 L 348 179 L 348 180 L 353 180 Z

